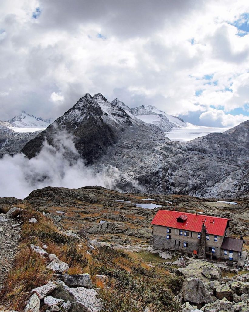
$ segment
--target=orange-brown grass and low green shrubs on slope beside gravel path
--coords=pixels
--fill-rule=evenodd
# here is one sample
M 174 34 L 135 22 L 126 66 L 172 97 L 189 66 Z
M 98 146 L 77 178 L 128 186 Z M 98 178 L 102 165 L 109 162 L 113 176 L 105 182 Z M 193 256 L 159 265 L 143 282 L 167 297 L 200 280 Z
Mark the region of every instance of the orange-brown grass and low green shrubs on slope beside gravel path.
M 24 207 L 23 207 L 24 208 Z M 38 222 L 28 220 L 35 217 Z M 107 311 L 151 312 L 180 311 L 175 295 L 182 285 L 182 278 L 167 271 L 162 264 L 147 266 L 140 257 L 131 253 L 99 246 L 87 254 L 86 240 L 64 236 L 53 222 L 30 207 L 25 207 L 21 220 L 21 242 L 14 266 L 9 272 L 0 302 L 13 310 L 22 310 L 30 291 L 44 285 L 53 272 L 46 268 L 48 260 L 33 252 L 30 244 L 43 247 L 70 266 L 69 274 L 89 273 Z M 107 281 L 96 279 L 97 274 L 108 276 Z

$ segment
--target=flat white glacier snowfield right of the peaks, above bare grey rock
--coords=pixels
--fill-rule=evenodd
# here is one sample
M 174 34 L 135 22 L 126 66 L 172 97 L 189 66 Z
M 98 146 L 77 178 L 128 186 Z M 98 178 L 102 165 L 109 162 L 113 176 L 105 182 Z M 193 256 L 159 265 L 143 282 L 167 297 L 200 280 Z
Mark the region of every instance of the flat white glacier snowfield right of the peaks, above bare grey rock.
M 165 132 L 165 134 L 171 141 L 187 142 L 213 132 L 222 133 L 228 129 L 229 128 L 196 126 L 194 124 L 187 123 L 187 127 L 173 128 L 170 132 Z

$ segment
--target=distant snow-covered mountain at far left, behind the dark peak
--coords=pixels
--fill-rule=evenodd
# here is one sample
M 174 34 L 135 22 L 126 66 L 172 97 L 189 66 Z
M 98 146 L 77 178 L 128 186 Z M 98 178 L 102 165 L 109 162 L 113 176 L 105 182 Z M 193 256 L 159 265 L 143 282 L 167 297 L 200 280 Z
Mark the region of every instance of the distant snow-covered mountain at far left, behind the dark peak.
M 50 124 L 48 121 L 50 120 L 45 121 L 41 117 L 31 116 L 23 111 L 21 115 L 13 117 L 7 123 L 16 128 L 47 128 Z

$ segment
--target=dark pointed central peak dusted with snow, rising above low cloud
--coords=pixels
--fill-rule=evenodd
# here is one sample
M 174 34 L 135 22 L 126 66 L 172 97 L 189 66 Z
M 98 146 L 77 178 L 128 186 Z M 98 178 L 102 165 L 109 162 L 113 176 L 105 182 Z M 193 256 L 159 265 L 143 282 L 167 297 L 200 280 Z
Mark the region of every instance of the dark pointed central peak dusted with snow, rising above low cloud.
M 115 144 L 130 148 L 130 138 L 136 136 L 137 140 L 137 136 L 142 137 L 145 132 L 146 135 L 149 132 L 151 140 L 156 142 L 154 147 L 159 145 L 159 141 L 167 141 L 160 129 L 149 127 L 135 116 L 128 115 L 122 108 L 109 103 L 102 94 L 92 97 L 87 93 L 63 116 L 28 142 L 22 152 L 29 158 L 34 157 L 44 140 L 47 139 L 53 145 L 53 137 L 62 129 L 74 135 L 76 149 L 87 163 L 93 163 Z

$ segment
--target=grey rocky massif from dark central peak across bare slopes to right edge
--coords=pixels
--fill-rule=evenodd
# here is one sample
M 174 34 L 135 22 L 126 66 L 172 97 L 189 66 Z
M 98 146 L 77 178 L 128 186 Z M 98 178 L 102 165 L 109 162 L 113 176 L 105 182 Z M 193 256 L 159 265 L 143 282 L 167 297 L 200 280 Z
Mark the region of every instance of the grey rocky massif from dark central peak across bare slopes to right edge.
M 54 145 L 66 130 L 86 164 L 94 164 L 99 171 L 103 165 L 118 169 L 114 188 L 122 191 L 219 198 L 248 194 L 249 121 L 223 134 L 170 142 L 160 125 L 134 115 L 146 116 L 148 112 L 160 113 L 153 106 L 131 110 L 118 99 L 110 103 L 102 94 L 86 94 L 47 129 L 31 139 L 25 136 L 22 152 L 28 158 L 35 157 L 45 140 Z M 183 123 L 177 117 L 161 115 L 170 123 Z M 8 143 L 6 134 L 2 136 L 2 154 L 20 150 L 22 140 L 15 140 L 16 148 Z

